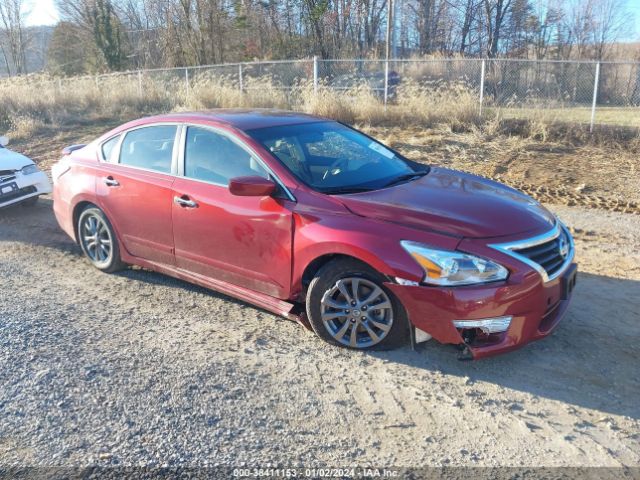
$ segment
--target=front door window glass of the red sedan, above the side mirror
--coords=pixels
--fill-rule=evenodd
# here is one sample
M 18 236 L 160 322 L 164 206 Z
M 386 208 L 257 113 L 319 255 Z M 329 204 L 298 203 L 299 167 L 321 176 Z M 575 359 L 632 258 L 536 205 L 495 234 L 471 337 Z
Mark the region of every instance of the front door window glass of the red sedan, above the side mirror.
M 184 175 L 220 185 L 235 177 L 269 178 L 264 167 L 229 137 L 197 127 L 187 130 Z

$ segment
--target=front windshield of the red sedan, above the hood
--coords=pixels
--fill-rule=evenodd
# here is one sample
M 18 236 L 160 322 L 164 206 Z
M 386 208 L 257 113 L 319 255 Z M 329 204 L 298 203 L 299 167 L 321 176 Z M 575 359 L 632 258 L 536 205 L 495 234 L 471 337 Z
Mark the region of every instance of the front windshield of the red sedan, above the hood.
M 324 193 L 376 190 L 425 175 L 427 167 L 337 122 L 247 131 L 291 172 Z

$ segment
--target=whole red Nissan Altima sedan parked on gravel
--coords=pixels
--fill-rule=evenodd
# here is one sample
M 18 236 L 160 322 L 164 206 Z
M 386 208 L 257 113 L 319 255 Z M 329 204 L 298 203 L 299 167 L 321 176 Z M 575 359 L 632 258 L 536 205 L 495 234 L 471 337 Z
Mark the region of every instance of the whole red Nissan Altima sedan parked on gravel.
M 58 222 L 98 269 L 178 277 L 339 346 L 507 352 L 548 335 L 575 285 L 573 239 L 539 203 L 310 115 L 144 118 L 52 173 Z

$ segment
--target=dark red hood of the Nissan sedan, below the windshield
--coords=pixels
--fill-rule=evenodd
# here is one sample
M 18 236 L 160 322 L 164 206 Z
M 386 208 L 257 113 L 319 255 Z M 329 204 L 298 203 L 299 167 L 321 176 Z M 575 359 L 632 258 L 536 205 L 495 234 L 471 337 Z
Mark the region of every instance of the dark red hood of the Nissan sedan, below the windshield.
M 527 195 L 500 183 L 444 168 L 412 182 L 342 195 L 356 215 L 467 238 L 546 231 L 554 216 Z

